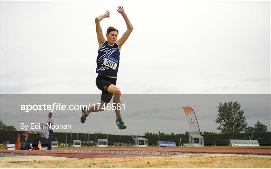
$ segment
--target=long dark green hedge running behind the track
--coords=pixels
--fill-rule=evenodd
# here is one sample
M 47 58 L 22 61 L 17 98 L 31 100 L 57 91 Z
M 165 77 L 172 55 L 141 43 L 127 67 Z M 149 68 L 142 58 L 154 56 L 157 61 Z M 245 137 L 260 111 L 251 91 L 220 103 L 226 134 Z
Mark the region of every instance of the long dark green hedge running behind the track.
M 0 142 L 9 141 L 10 143 L 15 144 L 17 140 L 17 135 L 20 134 L 20 141 L 22 142 L 25 137 L 22 136 L 23 131 L 0 131 Z M 39 135 L 31 134 L 29 136 L 29 141 L 33 142 L 34 138 Z M 261 146 L 271 145 L 271 132 L 254 132 L 254 133 L 240 133 L 240 134 L 203 134 L 204 137 L 204 145 L 211 146 L 227 146 L 230 139 L 252 139 L 258 140 Z M 159 137 L 155 136 L 140 136 L 148 139 L 149 145 L 156 145 L 156 142 L 159 141 Z M 64 133 L 64 132 L 54 132 L 53 133 L 53 141 L 57 140 L 61 143 L 66 143 L 71 145 L 73 140 L 81 140 L 84 141 L 93 141 L 97 142 L 97 139 L 107 139 L 109 145 L 115 145 L 115 143 L 125 143 L 130 145 L 134 143 L 131 135 L 110 135 L 110 134 L 88 134 L 88 133 Z M 189 143 L 188 134 L 183 135 L 167 135 L 160 136 L 160 141 L 172 141 L 176 142 L 176 145 L 180 145 L 181 143 Z

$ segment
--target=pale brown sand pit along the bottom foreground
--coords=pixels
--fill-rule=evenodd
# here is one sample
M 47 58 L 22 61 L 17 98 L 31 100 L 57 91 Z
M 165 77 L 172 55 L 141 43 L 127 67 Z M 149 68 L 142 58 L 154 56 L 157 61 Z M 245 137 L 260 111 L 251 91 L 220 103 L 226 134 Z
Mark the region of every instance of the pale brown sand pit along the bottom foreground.
M 271 156 L 198 155 L 2 163 L 2 168 L 270 168 Z

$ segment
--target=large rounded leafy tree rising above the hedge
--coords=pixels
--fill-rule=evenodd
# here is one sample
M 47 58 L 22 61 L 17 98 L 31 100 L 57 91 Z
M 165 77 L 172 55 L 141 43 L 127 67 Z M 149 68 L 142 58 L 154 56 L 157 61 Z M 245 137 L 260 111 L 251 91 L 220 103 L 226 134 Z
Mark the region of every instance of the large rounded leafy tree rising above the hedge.
M 221 133 L 240 133 L 245 131 L 247 122 L 244 116 L 244 110 L 240 110 L 241 104 L 235 102 L 219 103 L 217 107 L 218 117 L 215 122 Z

